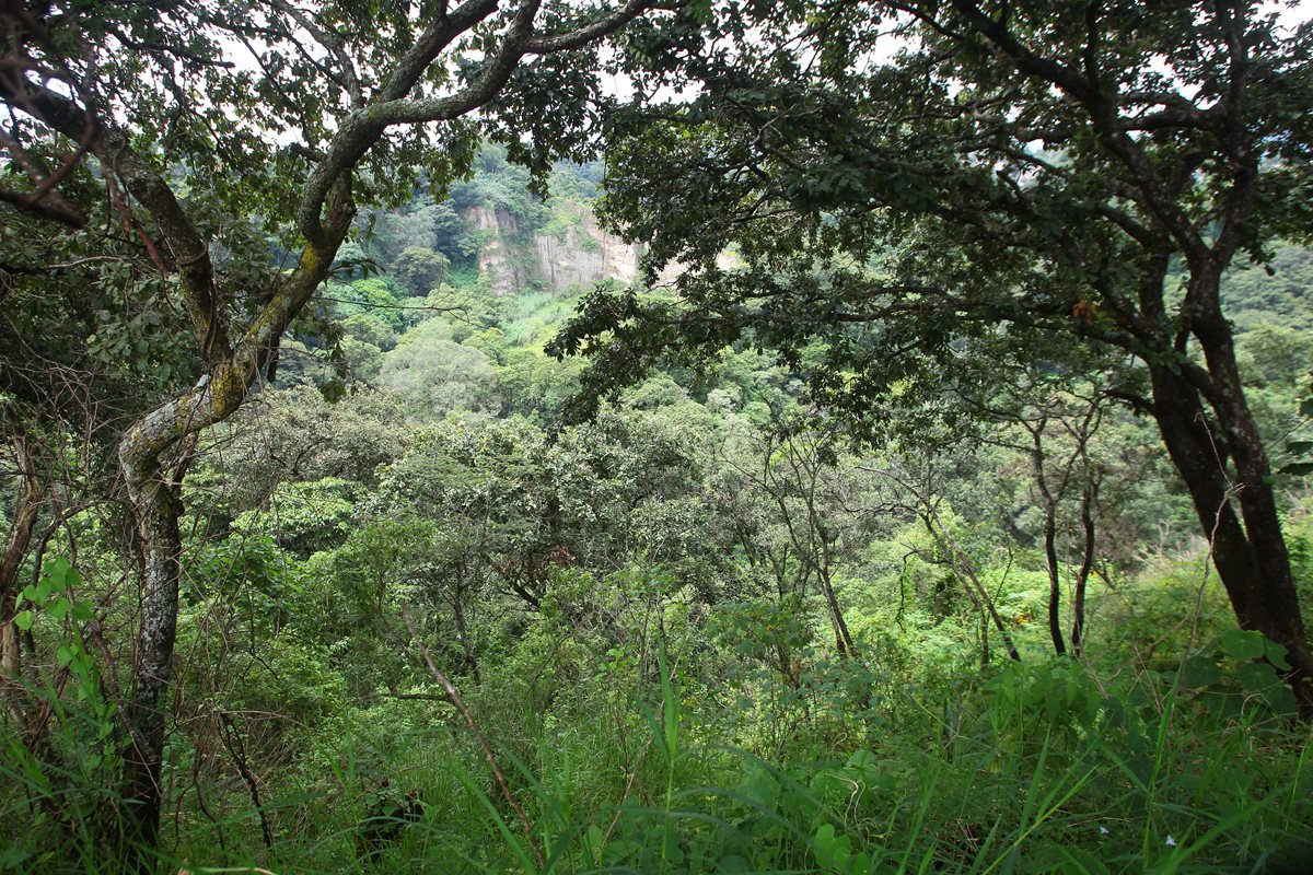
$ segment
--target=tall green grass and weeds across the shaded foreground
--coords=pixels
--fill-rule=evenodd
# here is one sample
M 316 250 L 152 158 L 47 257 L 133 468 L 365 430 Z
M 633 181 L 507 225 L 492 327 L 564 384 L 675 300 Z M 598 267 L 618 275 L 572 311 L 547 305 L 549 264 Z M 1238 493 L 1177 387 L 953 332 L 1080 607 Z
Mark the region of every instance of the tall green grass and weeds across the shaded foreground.
M 1169 707 L 1127 707 L 1062 662 L 962 674 L 865 714 L 801 703 L 752 715 L 731 746 L 710 727 L 718 691 L 659 660 L 634 693 L 593 676 L 562 708 L 475 691 L 484 729 L 534 823 L 532 842 L 475 745 L 432 703 L 398 703 L 402 735 L 372 735 L 374 712 L 264 788 L 276 847 L 227 775 L 165 825 L 169 866 L 192 872 L 1217 872 L 1313 858 L 1306 824 L 1308 731 L 1251 715 L 1222 719 L 1159 690 Z M 632 678 L 637 680 L 637 678 Z M 630 687 L 633 689 L 633 687 Z M 764 693 L 765 690 L 763 690 Z M 689 706 L 692 703 L 692 707 Z M 851 704 L 851 703 L 848 703 Z M 943 715 L 960 707 L 953 720 Z M 919 715 L 919 719 L 916 718 Z M 395 723 L 397 715 L 391 715 Z M 794 728 L 784 750 L 771 720 Z M 836 724 L 863 743 L 829 748 Z M 7 758 L 3 816 L 21 816 L 25 781 Z M 398 824 L 373 862 L 356 836 L 381 773 L 427 811 Z M 33 787 L 26 786 L 28 791 Z M 55 842 L 50 826 L 41 841 Z M 219 834 L 223 834 L 221 846 Z M 540 865 L 532 850 L 541 849 Z M 18 871 L 114 871 L 75 829 L 60 847 L 11 847 Z M 17 854 L 34 855 L 18 863 Z

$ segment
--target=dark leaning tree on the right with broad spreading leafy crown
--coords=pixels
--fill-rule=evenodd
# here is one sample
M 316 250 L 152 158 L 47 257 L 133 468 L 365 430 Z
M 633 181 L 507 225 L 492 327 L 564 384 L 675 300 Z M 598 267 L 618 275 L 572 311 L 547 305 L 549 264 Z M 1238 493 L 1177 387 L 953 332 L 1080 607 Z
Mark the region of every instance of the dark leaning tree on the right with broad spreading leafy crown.
M 978 340 L 1120 350 L 1213 544 L 1239 624 L 1313 652 L 1267 447 L 1220 296 L 1233 264 L 1313 231 L 1313 26 L 1253 3 L 748 7 L 705 41 L 637 30 L 603 213 L 674 294 L 600 290 L 557 341 L 595 390 L 674 354 L 779 350 L 872 436 Z M 888 56 L 889 35 L 897 56 Z M 697 98 L 659 105 L 656 87 Z M 622 136 L 621 136 L 622 135 Z M 742 268 L 717 266 L 734 245 Z M 605 342 L 597 342 L 605 338 Z M 681 350 L 678 346 L 683 345 Z M 678 352 L 676 352 L 678 350 Z

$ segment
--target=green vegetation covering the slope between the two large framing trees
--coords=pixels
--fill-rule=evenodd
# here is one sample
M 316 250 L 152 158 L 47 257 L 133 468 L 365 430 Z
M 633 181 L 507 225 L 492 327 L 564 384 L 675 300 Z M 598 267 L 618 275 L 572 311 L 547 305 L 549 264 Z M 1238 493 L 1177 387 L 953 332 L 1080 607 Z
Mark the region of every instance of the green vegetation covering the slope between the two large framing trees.
M 469 189 L 524 214 L 515 205 L 534 202 L 503 169 Z M 1016 422 L 935 451 L 853 454 L 788 369 L 744 349 L 562 428 L 580 366 L 542 344 L 578 294 L 496 296 L 478 275 L 407 286 L 404 253 L 429 239 L 393 235 L 425 210 L 421 197 L 373 220 L 370 275 L 327 286 L 334 331 L 288 344 L 299 363 L 285 353 L 189 475 L 180 647 L 225 643 L 179 678 L 189 728 L 171 736 L 169 858 L 297 872 L 1203 871 L 1313 850 L 1293 701 L 1246 661 L 1271 645 L 1229 622 L 1142 421 L 1100 408 L 1071 475 L 1103 484 L 1073 665 L 1044 622 L 1043 517 Z M 1313 331 L 1267 314 L 1250 282 L 1228 285 L 1251 316 L 1241 359 L 1264 428 L 1285 434 Z M 1087 403 L 1079 387 L 1027 391 L 1064 428 Z M 1046 439 L 1061 467 L 1070 436 Z M 1308 593 L 1313 505 L 1285 484 Z M 1073 488 L 1058 508 L 1065 590 L 1078 501 Z M 95 517 L 72 523 L 77 543 L 101 543 Z M 108 606 L 92 581 L 114 561 L 88 546 L 76 572 L 46 575 Z M 495 745 L 528 833 L 420 643 Z M 66 756 L 88 756 L 96 701 L 53 727 Z M 70 811 L 96 816 L 88 782 L 109 763 L 38 778 L 21 749 L 8 756 L 7 804 L 58 781 Z M 259 808 L 235 762 L 260 763 Z M 63 857 L 59 821 L 38 824 L 13 866 Z

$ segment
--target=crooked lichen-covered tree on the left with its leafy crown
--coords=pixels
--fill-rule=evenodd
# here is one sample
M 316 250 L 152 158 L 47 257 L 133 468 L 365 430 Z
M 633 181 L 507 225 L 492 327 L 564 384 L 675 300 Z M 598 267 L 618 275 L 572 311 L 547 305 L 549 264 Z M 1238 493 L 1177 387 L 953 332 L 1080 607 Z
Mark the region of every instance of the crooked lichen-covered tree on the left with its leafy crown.
M 148 253 L 202 362 L 193 384 L 156 396 L 118 441 L 142 542 L 122 791 L 133 844 L 152 846 L 159 828 L 180 481 L 197 436 L 231 416 L 276 359 L 280 337 L 328 277 L 357 202 L 399 199 L 421 173 L 441 188 L 470 167 L 473 112 L 484 110 L 484 129 L 538 173 L 555 156 L 580 155 L 597 97 L 590 52 L 647 7 L 4 5 L 3 134 L 28 174 L 4 199 Z M 230 58 L 236 46 L 243 63 Z M 87 156 L 108 207 L 79 207 L 64 186 Z M 289 266 L 269 264 L 260 235 L 218 257 L 210 241 L 248 227 L 251 214 L 294 253 Z M 102 257 L 95 237 L 85 245 L 85 257 Z

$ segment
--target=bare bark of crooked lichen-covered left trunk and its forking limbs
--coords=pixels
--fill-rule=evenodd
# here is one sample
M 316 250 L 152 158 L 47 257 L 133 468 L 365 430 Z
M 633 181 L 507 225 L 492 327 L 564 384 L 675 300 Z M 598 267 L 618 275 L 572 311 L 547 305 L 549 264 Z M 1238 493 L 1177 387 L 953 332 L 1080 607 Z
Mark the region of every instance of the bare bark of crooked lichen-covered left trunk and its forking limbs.
M 534 29 L 541 3 L 525 0 L 515 9 L 496 45 L 486 47 L 482 72 L 471 81 L 442 96 L 411 97 L 448 46 L 499 8 L 496 0 L 466 0 L 452 9 L 441 4 L 440 13 L 425 13 L 425 26 L 390 71 L 381 71 L 386 75 L 368 100 L 340 39 L 318 29 L 305 16 L 289 13 L 311 37 L 323 39 L 322 47 L 334 58 L 332 63 L 341 67 L 339 73 L 351 110 L 340 113 L 331 126 L 335 130 L 326 153 L 310 159 L 314 169 L 302 185 L 295 210 L 297 230 L 306 241 L 301 258 L 280 275 L 276 291 L 239 337 L 230 337 L 228 296 L 232 290 L 218 282 L 209 257 L 210 241 L 193 226 L 156 163 L 134 151 L 127 132 L 130 126 L 121 127 L 112 113 L 97 113 L 101 108 L 79 104 L 84 94 L 75 87 L 71 96 L 67 81 L 53 89 L 22 75 L 0 76 L 0 100 L 21 106 L 50 131 L 84 148 L 95 146 L 105 177 L 117 178 L 150 215 L 159 244 L 147 241 L 147 245 L 152 256 L 156 251 L 163 253 L 164 257 L 156 261 L 177 278 L 177 290 L 206 365 L 206 373 L 189 391 L 139 417 L 118 443 L 119 468 L 137 512 L 143 550 L 142 627 L 129 707 L 129 729 L 134 740 L 121 788 L 130 803 L 125 825 L 131 832 L 119 834 L 129 842 L 125 850 L 130 854 L 130 865 L 138 870 L 151 867 L 154 858 L 147 851 L 159 833 L 164 701 L 177 634 L 180 577 L 177 521 L 181 509 L 173 475 L 180 471 L 177 459 L 186 455 L 185 450 L 179 453 L 179 447 L 242 405 L 272 350 L 277 349 L 277 340 L 327 278 L 356 213 L 351 188 L 355 168 L 389 127 L 467 115 L 503 91 L 527 55 L 582 47 L 625 26 L 647 5 L 647 0 L 628 0 L 592 17 L 584 16 L 586 20 L 574 22 L 571 29 L 541 33 Z

